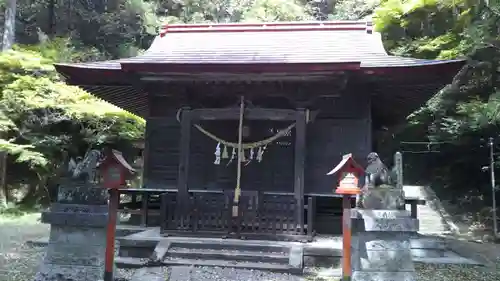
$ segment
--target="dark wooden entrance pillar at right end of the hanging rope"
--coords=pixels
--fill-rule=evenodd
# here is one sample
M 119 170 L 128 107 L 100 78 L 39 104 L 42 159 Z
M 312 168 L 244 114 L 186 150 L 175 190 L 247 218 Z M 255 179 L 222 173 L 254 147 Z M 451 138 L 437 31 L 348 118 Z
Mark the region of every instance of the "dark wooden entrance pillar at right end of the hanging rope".
M 297 223 L 304 231 L 304 166 L 306 153 L 306 111 L 299 108 L 295 116 L 294 193 L 297 199 Z

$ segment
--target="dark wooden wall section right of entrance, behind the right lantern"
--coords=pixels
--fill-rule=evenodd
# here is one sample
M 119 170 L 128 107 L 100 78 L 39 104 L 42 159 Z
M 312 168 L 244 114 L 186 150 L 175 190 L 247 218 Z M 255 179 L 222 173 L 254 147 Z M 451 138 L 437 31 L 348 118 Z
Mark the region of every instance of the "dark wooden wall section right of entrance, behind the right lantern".
M 337 178 L 326 173 L 342 155 L 352 153 L 364 164 L 371 151 L 370 97 L 351 91 L 321 105 L 316 120 L 307 126 L 305 193 L 331 194 Z

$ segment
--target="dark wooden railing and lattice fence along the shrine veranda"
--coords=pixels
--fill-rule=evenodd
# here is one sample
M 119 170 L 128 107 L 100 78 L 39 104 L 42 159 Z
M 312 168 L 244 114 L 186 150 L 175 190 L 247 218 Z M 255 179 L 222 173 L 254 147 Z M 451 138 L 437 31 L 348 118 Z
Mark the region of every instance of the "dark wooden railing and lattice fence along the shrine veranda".
M 189 202 L 177 203 L 175 189 L 134 188 L 121 189 L 120 194 L 128 194 L 132 202 L 140 206 L 127 209 L 120 204 L 120 210 L 130 214 L 140 214 L 140 225 L 148 225 L 152 214 L 161 217 L 161 228 L 167 233 L 182 234 L 192 232 L 235 233 L 240 236 L 314 236 L 314 214 L 317 197 L 339 197 L 337 194 L 305 194 L 307 204 L 304 210 L 298 210 L 293 193 L 285 192 L 243 192 L 246 200 L 240 201 L 239 214 L 232 217 L 232 192 L 218 190 L 192 190 Z M 137 202 L 137 196 L 141 197 Z M 156 200 L 152 200 L 157 198 Z M 353 198 L 354 200 L 354 198 Z M 151 208 L 154 203 L 154 207 Z M 417 218 L 417 206 L 425 205 L 425 200 L 406 198 L 411 206 L 411 216 Z M 303 226 L 297 224 L 297 212 L 307 214 Z M 293 215 L 292 215 L 293 214 Z M 265 238 L 265 237 L 264 237 Z

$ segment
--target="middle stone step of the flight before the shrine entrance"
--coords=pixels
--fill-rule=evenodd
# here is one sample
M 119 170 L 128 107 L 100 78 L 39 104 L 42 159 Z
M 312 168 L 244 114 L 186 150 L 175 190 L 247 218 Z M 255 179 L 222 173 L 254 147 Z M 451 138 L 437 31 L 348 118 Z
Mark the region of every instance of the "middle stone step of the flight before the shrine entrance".
M 288 264 L 289 260 L 288 254 L 285 253 L 186 248 L 170 248 L 167 252 L 167 258 L 267 262 L 276 264 Z

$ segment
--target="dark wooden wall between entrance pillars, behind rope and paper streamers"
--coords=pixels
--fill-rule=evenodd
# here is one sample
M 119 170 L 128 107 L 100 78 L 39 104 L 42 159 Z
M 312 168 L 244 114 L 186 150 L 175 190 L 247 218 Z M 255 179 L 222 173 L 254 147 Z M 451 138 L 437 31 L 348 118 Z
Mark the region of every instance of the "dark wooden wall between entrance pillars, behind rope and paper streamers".
M 237 143 L 238 122 L 237 121 L 206 121 L 201 123 L 203 128 L 218 137 Z M 286 128 L 290 123 L 269 121 L 246 121 L 245 125 L 250 128 L 250 135 L 244 138 L 245 143 L 255 142 L 274 135 L 269 129 L 272 127 Z M 190 145 L 190 189 L 234 189 L 236 186 L 236 163 L 234 159 L 230 163 L 228 159 L 221 159 L 220 165 L 214 165 L 215 149 L 217 142 L 198 129 L 191 130 Z M 270 144 L 266 148 L 263 161 L 256 159 L 242 166 L 241 188 L 243 190 L 281 191 L 293 192 L 293 157 L 294 147 L 290 140 L 294 135 L 281 138 L 278 142 Z M 221 147 L 221 152 L 223 147 Z M 232 149 L 228 149 L 231 156 Z M 257 150 L 254 150 L 254 157 Z M 249 158 L 249 150 L 245 150 L 245 157 Z

